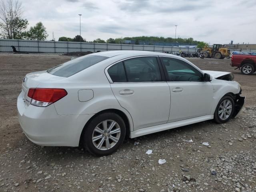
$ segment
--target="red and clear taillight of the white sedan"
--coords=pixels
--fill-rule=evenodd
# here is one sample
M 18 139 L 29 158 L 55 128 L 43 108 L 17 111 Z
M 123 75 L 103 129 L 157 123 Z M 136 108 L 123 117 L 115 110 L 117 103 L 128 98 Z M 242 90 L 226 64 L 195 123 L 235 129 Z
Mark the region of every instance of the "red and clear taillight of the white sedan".
M 39 107 L 46 107 L 67 94 L 66 90 L 57 88 L 30 88 L 28 90 L 28 97 L 31 98 L 30 104 Z

